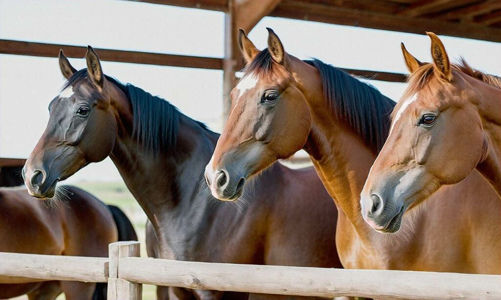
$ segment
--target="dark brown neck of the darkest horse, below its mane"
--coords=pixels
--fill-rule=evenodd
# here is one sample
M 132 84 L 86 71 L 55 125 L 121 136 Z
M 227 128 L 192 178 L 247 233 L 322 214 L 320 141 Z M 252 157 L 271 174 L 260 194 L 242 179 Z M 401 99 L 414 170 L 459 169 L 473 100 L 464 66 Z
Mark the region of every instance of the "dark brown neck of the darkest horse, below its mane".
M 130 101 L 121 94 L 114 103 L 119 130 L 110 157 L 152 222 L 160 245 L 175 243 L 184 231 L 189 235 L 188 230 L 198 230 L 207 217 L 209 203 L 198 192 L 196 182 L 210 159 L 217 134 L 181 114 L 175 149 L 155 155 L 133 138 Z

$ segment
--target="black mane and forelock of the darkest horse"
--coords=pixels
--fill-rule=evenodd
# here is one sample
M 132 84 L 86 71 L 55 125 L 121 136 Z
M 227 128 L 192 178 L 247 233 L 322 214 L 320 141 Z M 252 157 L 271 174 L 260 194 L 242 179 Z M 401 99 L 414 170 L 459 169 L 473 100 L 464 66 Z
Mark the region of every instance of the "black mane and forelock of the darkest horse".
M 155 155 L 160 150 L 170 151 L 175 148 L 179 119 L 183 115 L 176 106 L 165 99 L 151 95 L 149 92 L 130 83 L 123 84 L 117 79 L 106 76 L 106 79 L 120 88 L 131 102 L 133 117 L 132 136 L 140 142 L 146 150 Z M 87 69 L 74 73 L 65 82 L 62 89 L 73 85 L 87 77 Z M 202 122 L 195 121 L 202 128 L 207 129 Z

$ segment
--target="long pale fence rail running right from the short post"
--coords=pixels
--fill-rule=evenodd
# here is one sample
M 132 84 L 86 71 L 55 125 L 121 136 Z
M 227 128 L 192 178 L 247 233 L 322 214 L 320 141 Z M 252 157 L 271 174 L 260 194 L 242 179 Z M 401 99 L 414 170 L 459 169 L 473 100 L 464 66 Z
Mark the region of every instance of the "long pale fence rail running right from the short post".
M 377 299 L 499 299 L 501 275 L 120 258 L 120 278 L 155 285 Z

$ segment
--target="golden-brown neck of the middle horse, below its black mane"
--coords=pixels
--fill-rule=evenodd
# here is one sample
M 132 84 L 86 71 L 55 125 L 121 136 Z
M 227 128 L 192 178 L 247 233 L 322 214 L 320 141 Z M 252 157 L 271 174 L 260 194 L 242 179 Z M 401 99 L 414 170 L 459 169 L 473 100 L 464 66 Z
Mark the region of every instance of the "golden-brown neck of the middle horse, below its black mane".
M 324 96 L 319 71 L 296 60 L 292 67 L 312 111 L 312 127 L 304 149 L 342 212 L 341 224 L 344 214 L 344 225 L 354 228 L 360 238 L 370 239 L 374 232 L 362 219 L 359 199 L 376 155 L 346 122 L 334 115 Z

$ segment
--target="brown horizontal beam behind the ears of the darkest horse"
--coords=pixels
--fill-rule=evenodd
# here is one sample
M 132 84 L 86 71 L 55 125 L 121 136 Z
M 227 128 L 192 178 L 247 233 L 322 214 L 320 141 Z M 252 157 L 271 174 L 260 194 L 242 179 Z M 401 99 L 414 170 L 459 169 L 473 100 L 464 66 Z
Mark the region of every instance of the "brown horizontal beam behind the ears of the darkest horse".
M 66 56 L 76 58 L 84 57 L 87 51 L 87 47 L 82 46 L 0 39 L 0 53 L 2 54 L 58 57 L 59 49 L 63 49 Z M 94 49 L 98 53 L 99 58 L 107 61 L 195 67 L 206 69 L 222 68 L 222 59 L 216 57 L 174 55 L 101 48 Z

